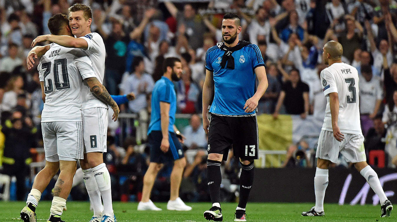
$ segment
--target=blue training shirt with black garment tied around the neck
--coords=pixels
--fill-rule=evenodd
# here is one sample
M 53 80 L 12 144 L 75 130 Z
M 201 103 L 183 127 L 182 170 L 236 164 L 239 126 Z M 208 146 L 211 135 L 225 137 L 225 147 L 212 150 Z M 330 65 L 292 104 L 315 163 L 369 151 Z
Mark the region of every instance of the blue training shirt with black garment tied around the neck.
M 225 51 L 212 46 L 205 56 L 205 68 L 214 73 L 215 95 L 210 112 L 222 115 L 247 115 L 244 112 L 247 99 L 255 93 L 256 76 L 254 69 L 264 66 L 262 54 L 258 46 L 249 44 L 232 53 L 234 69 L 221 67 L 222 56 Z

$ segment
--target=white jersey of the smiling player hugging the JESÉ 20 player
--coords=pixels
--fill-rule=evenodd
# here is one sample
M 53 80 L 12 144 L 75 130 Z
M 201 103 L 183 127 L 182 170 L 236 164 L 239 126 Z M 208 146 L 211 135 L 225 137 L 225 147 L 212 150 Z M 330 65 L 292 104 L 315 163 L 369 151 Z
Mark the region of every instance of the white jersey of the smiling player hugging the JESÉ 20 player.
M 103 42 L 103 39 L 98 33 L 89 33 L 80 38 L 87 41 L 88 48 L 84 51 L 93 62 L 95 77 L 100 81 L 100 83 L 103 84 L 106 57 L 105 44 Z M 102 101 L 94 96 L 94 94 L 90 91 L 90 88 L 87 85 L 83 86 L 83 91 L 81 95 L 83 97 L 83 104 L 81 105 L 81 109 L 83 110 L 95 107 L 108 108 L 107 104 L 104 104 Z

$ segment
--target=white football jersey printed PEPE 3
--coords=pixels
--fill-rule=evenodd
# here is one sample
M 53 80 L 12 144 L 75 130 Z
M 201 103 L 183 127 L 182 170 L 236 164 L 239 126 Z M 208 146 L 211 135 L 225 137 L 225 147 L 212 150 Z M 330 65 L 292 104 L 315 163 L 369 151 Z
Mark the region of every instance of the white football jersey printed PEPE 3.
M 327 97 L 323 130 L 332 131 L 330 93 L 338 93 L 338 126 L 341 133 L 362 134 L 358 101 L 358 72 L 349 64 L 334 63 L 321 71 L 324 95 Z

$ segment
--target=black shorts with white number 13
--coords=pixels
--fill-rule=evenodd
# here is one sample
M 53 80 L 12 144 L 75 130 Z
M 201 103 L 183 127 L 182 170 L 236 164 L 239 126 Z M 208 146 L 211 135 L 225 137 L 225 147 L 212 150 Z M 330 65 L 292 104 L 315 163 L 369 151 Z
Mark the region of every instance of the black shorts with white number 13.
M 256 116 L 211 115 L 208 132 L 208 153 L 224 154 L 227 159 L 229 149 L 243 160 L 258 159 L 258 124 Z

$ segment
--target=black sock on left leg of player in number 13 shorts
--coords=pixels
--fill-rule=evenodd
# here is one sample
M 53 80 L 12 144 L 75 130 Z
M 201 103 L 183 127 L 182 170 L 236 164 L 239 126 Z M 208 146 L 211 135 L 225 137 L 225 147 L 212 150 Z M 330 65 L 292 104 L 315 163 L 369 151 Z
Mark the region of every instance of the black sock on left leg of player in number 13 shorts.
M 207 160 L 207 180 L 208 189 L 212 203 L 221 202 L 221 162 L 216 160 Z

